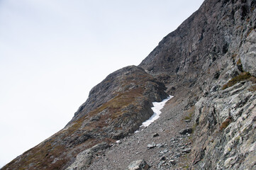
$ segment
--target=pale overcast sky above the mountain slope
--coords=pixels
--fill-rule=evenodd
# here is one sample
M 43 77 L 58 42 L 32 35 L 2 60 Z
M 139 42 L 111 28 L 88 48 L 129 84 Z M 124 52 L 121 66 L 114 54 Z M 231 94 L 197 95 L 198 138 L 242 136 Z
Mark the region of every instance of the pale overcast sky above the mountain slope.
M 61 130 L 203 0 L 0 0 L 0 167 Z

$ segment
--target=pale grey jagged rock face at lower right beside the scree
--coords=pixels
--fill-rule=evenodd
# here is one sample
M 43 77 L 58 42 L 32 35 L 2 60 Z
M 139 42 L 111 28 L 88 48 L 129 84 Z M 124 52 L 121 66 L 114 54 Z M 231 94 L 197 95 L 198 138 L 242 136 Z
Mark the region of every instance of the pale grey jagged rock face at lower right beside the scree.
M 196 103 L 194 168 L 255 169 L 256 94 L 248 91 L 252 85 L 236 84 Z

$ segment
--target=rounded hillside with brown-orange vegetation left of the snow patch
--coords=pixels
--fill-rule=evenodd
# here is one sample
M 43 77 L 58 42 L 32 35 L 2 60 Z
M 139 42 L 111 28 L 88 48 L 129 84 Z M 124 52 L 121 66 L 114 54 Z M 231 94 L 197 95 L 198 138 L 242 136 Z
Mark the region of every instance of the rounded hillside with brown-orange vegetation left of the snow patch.
M 133 133 L 150 118 L 152 101 L 167 96 L 165 85 L 140 67 L 113 72 L 91 89 L 87 101 L 63 130 L 2 169 L 66 169 L 84 151 L 89 156 L 79 166 L 87 167 L 94 153 Z

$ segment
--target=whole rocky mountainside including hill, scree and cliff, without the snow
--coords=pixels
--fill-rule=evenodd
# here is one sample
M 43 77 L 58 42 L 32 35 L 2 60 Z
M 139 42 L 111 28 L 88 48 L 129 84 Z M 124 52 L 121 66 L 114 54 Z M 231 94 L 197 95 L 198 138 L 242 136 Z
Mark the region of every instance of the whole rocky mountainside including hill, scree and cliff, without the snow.
M 256 1 L 206 0 L 2 169 L 256 169 Z M 160 118 L 152 102 L 174 96 Z

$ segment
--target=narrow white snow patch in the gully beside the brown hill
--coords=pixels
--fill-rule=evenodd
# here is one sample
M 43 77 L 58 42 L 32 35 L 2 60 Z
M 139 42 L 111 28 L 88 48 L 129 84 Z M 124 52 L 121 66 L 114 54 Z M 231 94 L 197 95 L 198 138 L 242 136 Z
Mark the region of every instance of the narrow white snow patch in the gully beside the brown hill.
M 143 122 L 143 125 L 140 125 L 140 128 L 148 127 L 151 123 L 153 123 L 155 120 L 157 120 L 160 117 L 160 114 L 162 113 L 160 110 L 165 106 L 165 103 L 169 101 L 173 96 L 169 96 L 168 98 L 165 98 L 163 101 L 160 102 L 153 102 L 153 106 L 151 109 L 154 112 L 154 114 L 145 122 Z M 139 132 L 140 130 L 137 130 L 135 132 Z

